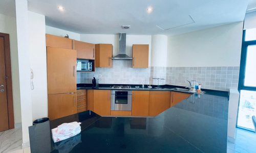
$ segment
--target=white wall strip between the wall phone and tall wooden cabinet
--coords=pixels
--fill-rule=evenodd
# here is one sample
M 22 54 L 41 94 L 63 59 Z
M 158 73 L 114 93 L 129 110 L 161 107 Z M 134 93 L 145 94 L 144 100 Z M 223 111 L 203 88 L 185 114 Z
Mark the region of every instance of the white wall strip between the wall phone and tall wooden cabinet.
M 33 70 L 32 118 L 48 116 L 45 16 L 28 12 L 30 67 Z

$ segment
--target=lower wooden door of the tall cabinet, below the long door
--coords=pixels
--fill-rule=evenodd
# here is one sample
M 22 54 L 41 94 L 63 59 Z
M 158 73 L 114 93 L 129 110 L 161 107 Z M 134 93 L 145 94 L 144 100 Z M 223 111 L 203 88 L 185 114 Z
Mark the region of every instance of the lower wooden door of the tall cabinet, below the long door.
M 48 94 L 48 116 L 56 119 L 77 112 L 76 93 Z

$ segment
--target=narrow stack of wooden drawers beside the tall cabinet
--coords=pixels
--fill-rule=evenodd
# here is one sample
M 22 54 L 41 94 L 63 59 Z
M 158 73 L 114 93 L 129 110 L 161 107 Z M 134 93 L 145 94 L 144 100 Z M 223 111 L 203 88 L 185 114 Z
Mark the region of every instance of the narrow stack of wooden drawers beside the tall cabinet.
M 77 90 L 77 113 L 87 110 L 86 90 Z

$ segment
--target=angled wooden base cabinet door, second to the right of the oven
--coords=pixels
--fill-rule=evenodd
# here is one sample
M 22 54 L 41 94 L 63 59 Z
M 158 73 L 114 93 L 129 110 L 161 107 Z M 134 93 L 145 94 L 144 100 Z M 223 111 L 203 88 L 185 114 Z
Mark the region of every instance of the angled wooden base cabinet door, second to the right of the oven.
M 170 91 L 150 91 L 150 116 L 156 116 L 168 108 L 170 108 Z

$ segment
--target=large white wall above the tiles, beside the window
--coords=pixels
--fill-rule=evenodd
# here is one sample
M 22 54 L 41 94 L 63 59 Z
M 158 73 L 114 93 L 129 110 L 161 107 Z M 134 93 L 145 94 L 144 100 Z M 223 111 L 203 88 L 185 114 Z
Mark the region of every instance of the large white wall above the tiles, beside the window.
M 168 37 L 167 66 L 240 66 L 243 22 Z

